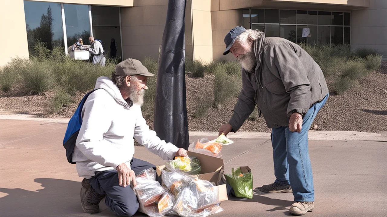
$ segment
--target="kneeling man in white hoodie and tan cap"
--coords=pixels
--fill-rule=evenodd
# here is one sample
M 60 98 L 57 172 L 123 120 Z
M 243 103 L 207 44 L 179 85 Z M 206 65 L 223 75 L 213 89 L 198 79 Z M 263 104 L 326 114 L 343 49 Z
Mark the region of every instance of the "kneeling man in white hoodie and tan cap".
M 97 79 L 96 90 L 84 103 L 72 160 L 84 178 L 80 199 L 86 213 L 98 213 L 105 195 L 106 205 L 117 215 L 132 216 L 139 209 L 129 185 L 136 185 L 135 174 L 156 166 L 133 158 L 134 139 L 164 160 L 187 156 L 186 150 L 159 139 L 142 117 L 148 76 L 153 74 L 140 61 L 126 59 L 112 79 Z

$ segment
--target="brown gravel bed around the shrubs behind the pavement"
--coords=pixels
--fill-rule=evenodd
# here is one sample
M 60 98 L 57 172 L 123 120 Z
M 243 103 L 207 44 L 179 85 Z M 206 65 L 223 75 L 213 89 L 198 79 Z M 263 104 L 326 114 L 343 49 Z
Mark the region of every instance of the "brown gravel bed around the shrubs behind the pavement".
M 205 78 L 186 78 L 187 112 L 190 131 L 218 131 L 228 122 L 236 98 L 230 99 L 219 108 L 210 107 L 200 118 L 193 116 L 195 101 L 213 98 L 214 76 Z M 205 94 L 201 94 L 205 93 Z M 36 117 L 70 118 L 84 93 L 77 93 L 74 103 L 60 112 L 49 113 L 48 105 L 53 92 L 45 95 L 25 95 L 14 88 L 8 93 L 0 92 L 0 114 L 34 114 Z M 200 98 L 202 96 L 202 98 Z M 205 97 L 205 98 L 204 98 Z M 153 120 L 147 120 L 153 128 Z M 361 79 L 342 95 L 330 95 L 326 105 L 317 114 L 312 129 L 324 131 L 387 131 L 387 62 L 383 62 L 379 72 L 371 73 Z M 270 132 L 263 117 L 257 121 L 247 120 L 241 132 Z

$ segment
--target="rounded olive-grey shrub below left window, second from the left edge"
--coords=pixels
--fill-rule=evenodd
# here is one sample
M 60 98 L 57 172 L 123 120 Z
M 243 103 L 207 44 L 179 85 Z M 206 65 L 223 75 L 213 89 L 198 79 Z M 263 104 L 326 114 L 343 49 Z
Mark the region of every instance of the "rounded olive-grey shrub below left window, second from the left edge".
M 29 94 L 42 94 L 50 90 L 54 83 L 50 61 L 31 61 L 21 71 L 21 76 Z

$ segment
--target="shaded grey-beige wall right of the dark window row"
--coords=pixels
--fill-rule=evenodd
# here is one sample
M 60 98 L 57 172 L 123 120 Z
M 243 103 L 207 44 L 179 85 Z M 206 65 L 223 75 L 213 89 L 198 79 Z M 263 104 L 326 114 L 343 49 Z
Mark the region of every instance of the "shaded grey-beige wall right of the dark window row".
M 365 10 L 353 10 L 351 16 L 351 48 L 377 49 L 387 57 L 387 1 L 370 0 Z

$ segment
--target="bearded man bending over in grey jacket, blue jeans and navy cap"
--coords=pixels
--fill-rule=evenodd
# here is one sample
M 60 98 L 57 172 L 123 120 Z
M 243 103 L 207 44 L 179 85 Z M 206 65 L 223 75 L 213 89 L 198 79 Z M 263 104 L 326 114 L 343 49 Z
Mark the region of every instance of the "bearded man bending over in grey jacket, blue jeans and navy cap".
M 308 130 L 328 98 L 319 65 L 297 44 L 264 32 L 235 27 L 224 38 L 226 50 L 242 66 L 242 90 L 234 114 L 219 135 L 236 132 L 258 105 L 272 129 L 276 180 L 257 190 L 293 192 L 293 215 L 314 209 L 312 166 L 308 153 Z

